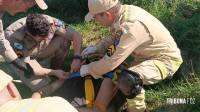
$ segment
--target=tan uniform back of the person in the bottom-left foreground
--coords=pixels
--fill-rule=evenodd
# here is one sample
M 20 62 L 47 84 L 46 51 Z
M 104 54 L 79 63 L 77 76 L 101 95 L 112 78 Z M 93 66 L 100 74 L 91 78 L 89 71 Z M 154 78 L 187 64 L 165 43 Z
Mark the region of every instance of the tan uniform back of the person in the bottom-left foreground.
M 12 100 L 0 106 L 0 112 L 78 112 L 61 97 Z

